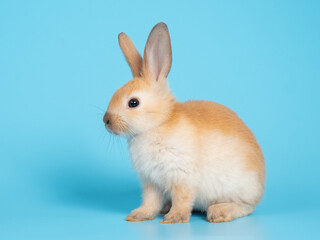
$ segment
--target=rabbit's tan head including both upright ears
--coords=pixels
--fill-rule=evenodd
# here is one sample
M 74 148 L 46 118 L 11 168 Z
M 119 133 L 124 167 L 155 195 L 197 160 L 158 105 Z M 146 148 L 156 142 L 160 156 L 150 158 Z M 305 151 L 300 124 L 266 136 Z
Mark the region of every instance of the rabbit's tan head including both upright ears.
M 167 25 L 158 23 L 148 37 L 143 59 L 125 33 L 119 34 L 119 44 L 133 79 L 114 93 L 103 121 L 111 133 L 132 136 L 159 126 L 170 115 L 175 102 L 167 82 L 171 43 Z

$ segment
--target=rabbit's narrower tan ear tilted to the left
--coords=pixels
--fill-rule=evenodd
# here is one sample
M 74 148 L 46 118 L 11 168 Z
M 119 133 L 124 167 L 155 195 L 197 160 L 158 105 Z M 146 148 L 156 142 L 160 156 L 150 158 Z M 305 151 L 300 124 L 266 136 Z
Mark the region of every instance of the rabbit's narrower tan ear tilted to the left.
M 125 33 L 120 33 L 118 36 L 120 48 L 131 68 L 134 77 L 140 77 L 142 72 L 142 57 L 137 48 Z

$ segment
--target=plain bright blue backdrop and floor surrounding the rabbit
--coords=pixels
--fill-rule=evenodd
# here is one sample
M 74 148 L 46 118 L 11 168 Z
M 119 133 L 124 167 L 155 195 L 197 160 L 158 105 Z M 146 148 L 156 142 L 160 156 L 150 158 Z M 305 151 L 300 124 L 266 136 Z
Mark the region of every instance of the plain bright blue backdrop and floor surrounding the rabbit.
M 0 1 L 0 238 L 319 238 L 319 11 L 319 1 Z M 117 34 L 142 52 L 159 21 L 176 97 L 231 107 L 264 150 L 266 192 L 249 217 L 124 220 L 141 188 L 102 116 L 131 78 Z

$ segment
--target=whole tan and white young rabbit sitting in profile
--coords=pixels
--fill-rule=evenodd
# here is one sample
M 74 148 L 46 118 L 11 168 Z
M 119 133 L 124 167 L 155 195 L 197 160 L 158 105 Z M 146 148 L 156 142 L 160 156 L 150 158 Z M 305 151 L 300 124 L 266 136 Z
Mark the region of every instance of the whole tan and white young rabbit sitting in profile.
M 253 133 L 229 108 L 211 101 L 178 102 L 168 85 L 171 42 L 165 23 L 154 26 L 143 59 L 118 36 L 133 79 L 111 98 L 106 129 L 127 139 L 143 201 L 127 221 L 189 222 L 193 210 L 209 222 L 253 212 L 264 192 L 265 163 Z

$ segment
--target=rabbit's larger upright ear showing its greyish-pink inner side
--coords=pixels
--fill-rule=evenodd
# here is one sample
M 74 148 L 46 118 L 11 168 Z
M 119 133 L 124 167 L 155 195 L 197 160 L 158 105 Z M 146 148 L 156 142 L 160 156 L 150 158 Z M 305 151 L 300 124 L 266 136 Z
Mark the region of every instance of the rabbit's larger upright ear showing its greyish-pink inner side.
M 153 77 L 156 81 L 168 76 L 172 53 L 169 31 L 165 23 L 160 22 L 151 30 L 143 58 L 144 76 Z

